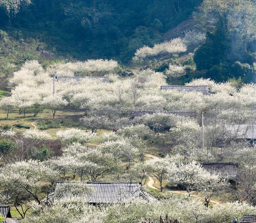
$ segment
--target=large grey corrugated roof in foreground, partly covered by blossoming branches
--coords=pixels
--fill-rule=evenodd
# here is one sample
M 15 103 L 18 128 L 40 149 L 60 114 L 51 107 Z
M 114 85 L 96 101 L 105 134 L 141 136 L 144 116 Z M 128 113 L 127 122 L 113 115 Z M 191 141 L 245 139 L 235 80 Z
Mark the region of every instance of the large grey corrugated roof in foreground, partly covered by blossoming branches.
M 57 183 L 55 193 L 62 184 L 62 182 Z M 85 184 L 93 187 L 93 192 L 78 197 L 83 197 L 88 203 L 124 203 L 129 198 L 140 196 L 147 200 L 155 199 L 151 195 L 142 192 L 141 183 L 138 182 L 85 182 Z M 70 198 L 71 194 L 66 192 L 63 197 Z

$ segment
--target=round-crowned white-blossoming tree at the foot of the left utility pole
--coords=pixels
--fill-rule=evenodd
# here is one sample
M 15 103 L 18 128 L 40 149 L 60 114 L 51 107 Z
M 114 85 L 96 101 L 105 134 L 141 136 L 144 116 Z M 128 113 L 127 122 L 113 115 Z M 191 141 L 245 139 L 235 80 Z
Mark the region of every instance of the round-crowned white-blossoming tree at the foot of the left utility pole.
M 53 119 L 56 111 L 68 105 L 68 101 L 59 94 L 50 95 L 43 99 L 42 104 L 52 110 Z

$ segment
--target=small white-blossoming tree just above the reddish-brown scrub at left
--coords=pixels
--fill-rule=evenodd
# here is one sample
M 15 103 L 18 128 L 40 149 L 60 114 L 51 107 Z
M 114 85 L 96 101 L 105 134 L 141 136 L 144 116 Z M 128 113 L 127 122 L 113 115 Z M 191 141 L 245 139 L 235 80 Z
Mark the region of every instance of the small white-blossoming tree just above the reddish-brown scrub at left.
M 39 144 L 43 143 L 45 140 L 51 139 L 51 135 L 49 135 L 46 131 L 39 131 L 28 129 L 27 131 L 22 133 L 24 139 L 28 139 L 34 147 L 37 147 Z

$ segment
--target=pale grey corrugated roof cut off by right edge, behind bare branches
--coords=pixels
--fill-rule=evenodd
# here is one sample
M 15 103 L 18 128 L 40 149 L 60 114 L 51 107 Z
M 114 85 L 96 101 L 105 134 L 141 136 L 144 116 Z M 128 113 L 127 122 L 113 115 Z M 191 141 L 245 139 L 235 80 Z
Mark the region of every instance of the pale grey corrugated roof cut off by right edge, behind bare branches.
M 256 124 L 225 124 L 226 137 L 231 139 L 255 139 Z

